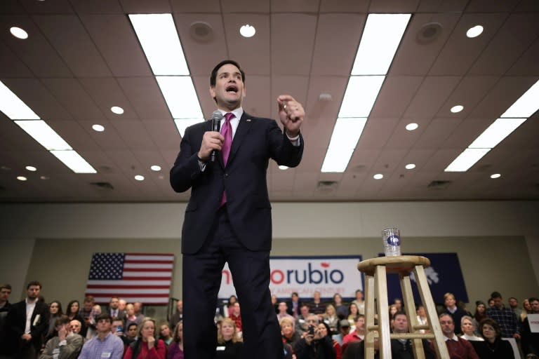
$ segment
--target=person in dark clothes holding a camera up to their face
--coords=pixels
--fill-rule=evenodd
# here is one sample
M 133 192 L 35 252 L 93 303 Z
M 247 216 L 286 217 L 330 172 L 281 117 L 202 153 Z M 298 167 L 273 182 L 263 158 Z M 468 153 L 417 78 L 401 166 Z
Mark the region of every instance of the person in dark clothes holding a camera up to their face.
M 294 345 L 294 352 L 297 359 L 335 359 L 336 354 L 333 349 L 333 341 L 328 336 L 327 330 L 321 330 L 318 326 L 318 316 L 309 314 L 307 316 L 309 329 L 303 337 Z

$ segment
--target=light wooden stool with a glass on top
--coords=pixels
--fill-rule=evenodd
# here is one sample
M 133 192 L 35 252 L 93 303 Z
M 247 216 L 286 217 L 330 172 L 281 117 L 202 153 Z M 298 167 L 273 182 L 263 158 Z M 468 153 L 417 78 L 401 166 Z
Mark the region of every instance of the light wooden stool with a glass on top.
M 440 323 L 432 295 L 430 294 L 427 276 L 424 267 L 430 266 L 430 260 L 416 255 L 399 255 L 395 257 L 379 257 L 367 259 L 357 264 L 357 269 L 365 273 L 365 358 L 374 358 L 374 339 L 378 333 L 380 343 L 380 358 L 391 358 L 391 339 L 412 339 L 413 356 L 415 359 L 425 359 L 425 351 L 422 339 L 434 339 L 434 348 L 438 358 L 449 358 L 444 334 L 441 332 Z M 419 325 L 415 315 L 415 303 L 413 302 L 410 273 L 415 273 L 415 282 L 418 285 L 419 294 L 425 312 L 427 313 L 428 325 Z M 408 317 L 409 332 L 406 334 L 392 334 L 390 332 L 390 313 L 387 304 L 387 277 L 386 273 L 399 273 L 399 281 Z M 378 325 L 374 325 L 374 297 L 378 299 Z M 430 333 L 419 332 L 429 329 Z

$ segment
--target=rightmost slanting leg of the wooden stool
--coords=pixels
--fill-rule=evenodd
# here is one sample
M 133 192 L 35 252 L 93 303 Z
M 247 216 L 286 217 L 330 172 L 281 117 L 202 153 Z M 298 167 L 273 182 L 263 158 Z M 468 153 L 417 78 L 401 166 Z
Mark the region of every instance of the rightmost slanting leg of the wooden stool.
M 446 341 L 444 341 L 444 334 L 441 332 L 440 321 L 438 320 L 436 307 L 430 294 L 429 283 L 427 282 L 427 276 L 425 276 L 425 269 L 423 266 L 415 266 L 414 269 L 415 280 L 418 284 L 419 294 L 421 296 L 421 302 L 425 306 L 425 313 L 429 320 L 429 327 L 432 334 L 434 334 L 434 348 L 438 358 L 449 358 L 447 351 Z

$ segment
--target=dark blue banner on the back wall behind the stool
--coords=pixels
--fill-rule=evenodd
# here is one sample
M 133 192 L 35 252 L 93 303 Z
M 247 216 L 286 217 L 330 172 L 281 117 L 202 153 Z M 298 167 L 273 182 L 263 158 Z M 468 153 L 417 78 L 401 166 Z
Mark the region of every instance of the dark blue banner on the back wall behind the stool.
M 378 257 L 382 257 L 382 253 Z M 463 271 L 456 253 L 403 253 L 403 255 L 420 255 L 430 259 L 430 267 L 425 268 L 432 299 L 435 304 L 444 304 L 444 294 L 455 294 L 457 301 L 468 302 L 468 293 L 464 283 Z M 413 290 L 413 300 L 421 303 L 418 287 L 415 284 L 413 273 L 410 276 Z M 397 274 L 387 275 L 387 295 L 390 304 L 395 298 L 402 298 L 401 285 Z

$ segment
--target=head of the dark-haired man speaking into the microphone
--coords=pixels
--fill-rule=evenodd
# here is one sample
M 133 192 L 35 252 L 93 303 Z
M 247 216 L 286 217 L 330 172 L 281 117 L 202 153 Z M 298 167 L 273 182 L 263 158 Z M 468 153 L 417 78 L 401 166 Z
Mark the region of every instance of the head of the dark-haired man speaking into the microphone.
M 245 88 L 239 69 L 232 64 L 222 65 L 217 71 L 215 86 L 210 87 L 210 94 L 217 100 L 218 107 L 240 107 L 245 98 Z

